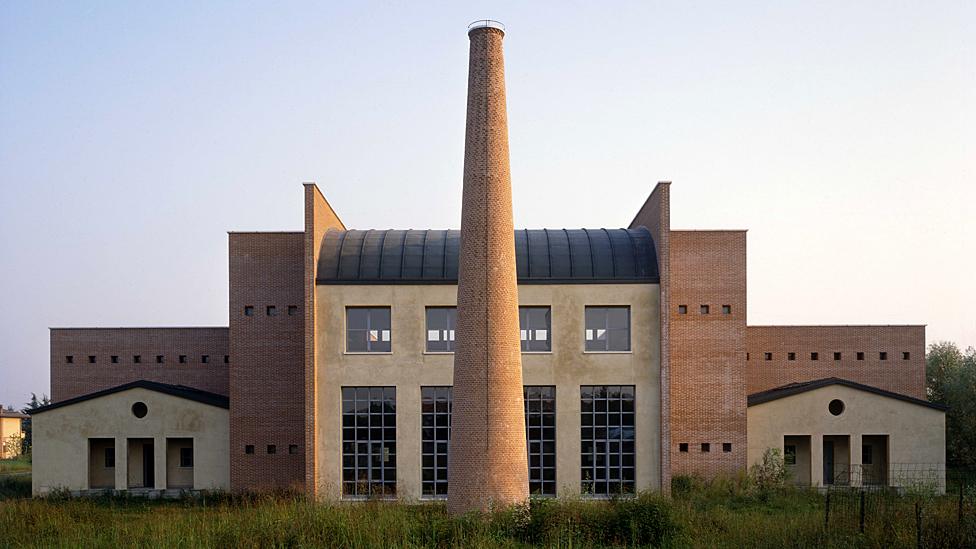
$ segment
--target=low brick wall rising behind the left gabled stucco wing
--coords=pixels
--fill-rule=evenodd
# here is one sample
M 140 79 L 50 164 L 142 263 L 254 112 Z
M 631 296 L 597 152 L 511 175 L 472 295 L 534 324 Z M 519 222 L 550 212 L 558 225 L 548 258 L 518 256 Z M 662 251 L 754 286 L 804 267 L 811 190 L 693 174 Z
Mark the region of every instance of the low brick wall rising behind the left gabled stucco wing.
M 230 354 L 227 328 L 52 328 L 51 400 L 140 379 L 226 395 L 229 364 L 224 357 Z M 157 355 L 164 357 L 162 363 Z M 185 363 L 180 355 L 186 356 Z

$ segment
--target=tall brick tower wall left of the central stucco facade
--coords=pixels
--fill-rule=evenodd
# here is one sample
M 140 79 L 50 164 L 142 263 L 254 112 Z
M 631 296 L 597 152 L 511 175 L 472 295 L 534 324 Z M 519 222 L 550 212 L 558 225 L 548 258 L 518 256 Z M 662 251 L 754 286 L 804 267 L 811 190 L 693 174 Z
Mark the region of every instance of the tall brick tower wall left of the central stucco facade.
M 230 233 L 234 490 L 305 488 L 304 233 Z M 245 315 L 245 307 L 253 315 Z M 269 316 L 267 307 L 276 314 Z M 289 306 L 297 307 L 289 314 Z M 268 453 L 268 445 L 276 453 Z M 246 454 L 245 446 L 254 453 Z M 294 453 L 289 448 L 294 445 Z

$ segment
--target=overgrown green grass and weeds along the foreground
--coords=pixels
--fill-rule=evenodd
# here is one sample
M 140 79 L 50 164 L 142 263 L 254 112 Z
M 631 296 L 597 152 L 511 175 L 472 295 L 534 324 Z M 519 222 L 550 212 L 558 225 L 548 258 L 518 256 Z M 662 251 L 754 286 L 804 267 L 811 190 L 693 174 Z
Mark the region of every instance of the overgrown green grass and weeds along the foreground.
M 0 501 L 0 547 L 915 547 L 916 502 L 924 547 L 976 546 L 974 519 L 959 522 L 953 496 L 877 496 L 862 534 L 856 494 L 832 494 L 825 528 L 822 494 L 757 491 L 733 480 L 686 482 L 672 499 L 534 500 L 452 518 L 441 503 L 30 499 L 29 477 L 16 478 L 20 488 Z

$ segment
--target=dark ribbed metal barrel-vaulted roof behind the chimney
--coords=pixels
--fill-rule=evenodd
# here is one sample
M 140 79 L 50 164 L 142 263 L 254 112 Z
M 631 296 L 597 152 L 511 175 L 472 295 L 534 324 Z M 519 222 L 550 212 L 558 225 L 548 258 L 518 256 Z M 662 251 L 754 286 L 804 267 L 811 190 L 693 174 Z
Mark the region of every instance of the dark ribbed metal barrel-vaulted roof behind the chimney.
M 330 230 L 318 284 L 456 284 L 461 232 Z M 520 284 L 658 283 L 651 233 L 638 229 L 519 229 Z

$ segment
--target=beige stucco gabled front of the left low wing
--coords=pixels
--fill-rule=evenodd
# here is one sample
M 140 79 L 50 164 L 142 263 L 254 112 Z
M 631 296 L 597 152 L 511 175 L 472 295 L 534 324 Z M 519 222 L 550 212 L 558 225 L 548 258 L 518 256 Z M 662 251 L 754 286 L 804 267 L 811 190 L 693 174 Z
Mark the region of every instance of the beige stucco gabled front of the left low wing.
M 132 415 L 132 404 L 145 402 L 146 417 Z M 147 389 L 115 394 L 55 408 L 33 416 L 33 490 L 87 490 L 89 438 L 115 439 L 115 487 L 128 485 L 128 440 L 154 440 L 155 488 L 166 488 L 166 439 L 192 438 L 196 490 L 228 489 L 229 432 L 224 408 Z M 133 470 L 141 470 L 141 460 Z

